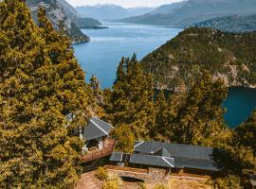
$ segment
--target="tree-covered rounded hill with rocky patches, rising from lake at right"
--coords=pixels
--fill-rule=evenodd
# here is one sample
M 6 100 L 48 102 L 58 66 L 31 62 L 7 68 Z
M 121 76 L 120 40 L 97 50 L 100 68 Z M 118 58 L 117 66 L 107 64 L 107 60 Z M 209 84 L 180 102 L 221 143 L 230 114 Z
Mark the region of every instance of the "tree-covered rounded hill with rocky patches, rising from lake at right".
M 256 32 L 231 34 L 192 27 L 163 44 L 141 63 L 156 88 L 184 90 L 200 68 L 228 86 L 256 87 Z

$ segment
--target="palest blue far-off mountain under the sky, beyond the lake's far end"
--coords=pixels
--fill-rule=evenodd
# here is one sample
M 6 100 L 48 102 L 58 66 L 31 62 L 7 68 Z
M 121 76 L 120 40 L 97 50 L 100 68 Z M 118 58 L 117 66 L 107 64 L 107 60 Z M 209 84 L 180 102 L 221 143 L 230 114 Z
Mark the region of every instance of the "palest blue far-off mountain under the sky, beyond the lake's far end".
M 98 5 L 77 7 L 76 10 L 82 17 L 92 17 L 99 20 L 117 20 L 145 14 L 151 11 L 152 8 L 124 9 L 116 5 Z

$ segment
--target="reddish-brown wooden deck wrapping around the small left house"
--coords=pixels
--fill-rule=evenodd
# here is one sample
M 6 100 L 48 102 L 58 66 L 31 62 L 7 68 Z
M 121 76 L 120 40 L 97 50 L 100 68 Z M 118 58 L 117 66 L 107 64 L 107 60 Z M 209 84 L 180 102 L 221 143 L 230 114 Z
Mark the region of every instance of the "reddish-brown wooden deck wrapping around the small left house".
M 94 160 L 104 158 L 106 156 L 111 155 L 111 153 L 114 150 L 115 145 L 116 145 L 115 140 L 107 139 L 105 141 L 103 149 L 101 149 L 101 150 L 100 149 L 92 150 L 92 151 L 89 151 L 87 154 L 83 155 L 81 157 L 82 163 L 89 163 L 89 162 L 92 162 Z

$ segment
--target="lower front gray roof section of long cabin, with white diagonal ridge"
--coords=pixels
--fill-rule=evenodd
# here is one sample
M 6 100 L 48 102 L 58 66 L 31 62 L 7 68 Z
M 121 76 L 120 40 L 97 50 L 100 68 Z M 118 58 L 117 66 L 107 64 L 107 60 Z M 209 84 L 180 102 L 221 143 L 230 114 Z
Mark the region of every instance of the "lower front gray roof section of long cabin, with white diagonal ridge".
M 132 154 L 130 163 L 146 164 L 162 167 L 174 167 L 174 158 L 145 155 L 145 154 Z

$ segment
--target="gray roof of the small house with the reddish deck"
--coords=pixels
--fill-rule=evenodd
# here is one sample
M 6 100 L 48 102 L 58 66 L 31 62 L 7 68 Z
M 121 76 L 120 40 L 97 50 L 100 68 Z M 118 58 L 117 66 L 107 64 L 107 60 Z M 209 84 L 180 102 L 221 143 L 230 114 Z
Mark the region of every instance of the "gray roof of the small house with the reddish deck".
M 97 117 L 92 117 L 87 126 L 83 129 L 83 138 L 85 140 L 98 139 L 109 135 L 113 127 Z

